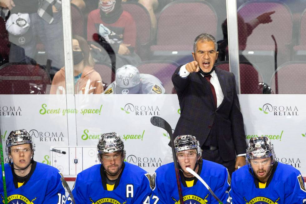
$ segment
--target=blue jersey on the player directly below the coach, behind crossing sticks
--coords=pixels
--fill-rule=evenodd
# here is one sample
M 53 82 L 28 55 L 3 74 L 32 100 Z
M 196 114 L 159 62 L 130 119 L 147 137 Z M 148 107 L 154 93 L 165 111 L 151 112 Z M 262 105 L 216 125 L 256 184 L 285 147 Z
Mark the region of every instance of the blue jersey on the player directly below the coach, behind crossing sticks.
M 207 160 L 202 160 L 202 162 L 199 162 L 199 165 L 198 174 L 200 177 L 203 178 L 223 203 L 229 203 L 228 191 L 230 188 L 230 177 L 227 169 L 220 164 Z M 150 203 L 179 204 L 180 199 L 176 185 L 174 163 L 172 162 L 159 167 L 156 169 L 155 174 L 153 175 L 153 179 L 155 177 L 155 185 L 152 186 L 153 193 Z M 197 178 L 195 178 L 193 186 L 187 187 L 184 177 L 181 174 L 180 182 L 184 204 L 218 203 Z

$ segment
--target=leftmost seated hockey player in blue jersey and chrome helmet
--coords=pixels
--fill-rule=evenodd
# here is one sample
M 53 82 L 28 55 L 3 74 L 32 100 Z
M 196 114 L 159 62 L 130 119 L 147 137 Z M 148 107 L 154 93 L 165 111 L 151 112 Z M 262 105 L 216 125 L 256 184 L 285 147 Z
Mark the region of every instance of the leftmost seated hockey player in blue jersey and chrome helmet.
M 30 134 L 22 129 L 7 137 L 8 164 L 4 164 L 8 204 L 64 204 L 65 189 L 59 171 L 35 162 L 35 144 Z M 0 194 L 4 203 L 3 180 Z

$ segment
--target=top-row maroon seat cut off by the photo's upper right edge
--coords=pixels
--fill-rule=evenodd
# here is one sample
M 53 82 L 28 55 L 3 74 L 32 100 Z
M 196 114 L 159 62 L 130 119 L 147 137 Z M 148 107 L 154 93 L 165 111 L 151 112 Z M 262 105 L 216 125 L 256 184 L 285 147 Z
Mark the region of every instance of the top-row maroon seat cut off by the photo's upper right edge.
M 306 9 L 300 18 L 299 25 L 299 45 L 293 47 L 293 58 L 295 61 L 306 61 Z

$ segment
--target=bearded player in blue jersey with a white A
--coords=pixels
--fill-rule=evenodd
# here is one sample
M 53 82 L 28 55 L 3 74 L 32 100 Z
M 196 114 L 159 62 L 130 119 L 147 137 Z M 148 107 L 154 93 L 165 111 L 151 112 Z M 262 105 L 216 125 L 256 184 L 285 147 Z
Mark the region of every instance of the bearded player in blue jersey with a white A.
M 94 165 L 77 175 L 72 194 L 76 204 L 142 204 L 151 194 L 150 176 L 140 167 L 124 162 L 126 152 L 115 132 L 102 134 Z M 68 197 L 66 203 L 71 203 Z

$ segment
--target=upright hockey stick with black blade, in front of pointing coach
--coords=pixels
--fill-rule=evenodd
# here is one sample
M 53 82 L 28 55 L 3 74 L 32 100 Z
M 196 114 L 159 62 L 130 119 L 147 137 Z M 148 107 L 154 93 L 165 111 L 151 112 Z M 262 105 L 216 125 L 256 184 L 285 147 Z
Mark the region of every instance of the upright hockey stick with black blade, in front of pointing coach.
M 176 154 L 175 154 L 175 150 L 174 150 L 174 141 L 173 141 L 172 128 L 171 128 L 171 126 L 169 125 L 169 123 L 167 121 L 165 121 L 163 118 L 158 117 L 158 116 L 151 117 L 151 123 L 154 126 L 163 128 L 165 131 L 168 132 L 168 134 L 170 136 L 172 155 L 173 155 L 173 161 L 174 161 L 174 168 L 175 168 L 176 184 L 177 184 L 177 189 L 178 189 L 178 192 L 179 192 L 180 204 L 184 204 L 182 187 L 180 185 L 179 166 L 177 164 Z

